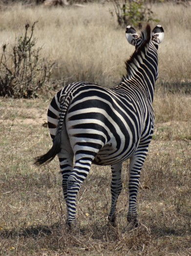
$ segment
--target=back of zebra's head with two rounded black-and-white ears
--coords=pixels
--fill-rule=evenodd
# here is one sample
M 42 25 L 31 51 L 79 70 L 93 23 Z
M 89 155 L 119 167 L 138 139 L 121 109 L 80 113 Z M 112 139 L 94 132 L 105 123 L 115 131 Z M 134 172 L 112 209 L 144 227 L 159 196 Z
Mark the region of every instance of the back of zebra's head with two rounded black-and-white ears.
M 152 35 L 152 36 L 151 36 Z M 155 26 L 150 35 L 150 26 L 147 25 L 146 28 L 141 32 L 140 36 L 137 34 L 136 30 L 132 26 L 127 26 L 126 28 L 126 38 L 129 44 L 135 46 L 138 49 L 141 45 L 149 43 L 151 40 L 156 48 L 163 41 L 164 29 L 161 25 Z

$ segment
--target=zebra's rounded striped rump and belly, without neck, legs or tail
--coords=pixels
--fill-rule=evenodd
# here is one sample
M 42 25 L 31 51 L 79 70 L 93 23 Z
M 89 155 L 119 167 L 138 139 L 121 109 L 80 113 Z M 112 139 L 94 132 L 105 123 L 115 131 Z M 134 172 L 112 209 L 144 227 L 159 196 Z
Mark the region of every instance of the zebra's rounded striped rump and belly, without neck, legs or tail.
M 117 89 L 85 82 L 69 84 L 49 106 L 50 134 L 54 138 L 60 119 L 58 109 L 64 101 L 68 106 L 62 128 L 66 129 L 74 154 L 92 155 L 97 165 L 122 162 L 136 150 L 149 113 L 141 97 L 140 93 L 136 99 L 135 92 L 123 93 L 119 89 L 118 93 Z

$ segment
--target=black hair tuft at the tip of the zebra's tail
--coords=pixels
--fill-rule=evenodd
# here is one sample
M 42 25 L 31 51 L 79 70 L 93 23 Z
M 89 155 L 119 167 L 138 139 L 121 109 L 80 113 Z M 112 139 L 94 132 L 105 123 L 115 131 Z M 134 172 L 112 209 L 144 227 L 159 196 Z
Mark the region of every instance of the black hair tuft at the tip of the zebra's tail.
M 34 164 L 40 166 L 44 163 L 51 162 L 54 157 L 61 151 L 61 132 L 58 132 L 53 140 L 52 148 L 46 153 L 42 154 L 41 156 L 37 156 L 35 158 Z

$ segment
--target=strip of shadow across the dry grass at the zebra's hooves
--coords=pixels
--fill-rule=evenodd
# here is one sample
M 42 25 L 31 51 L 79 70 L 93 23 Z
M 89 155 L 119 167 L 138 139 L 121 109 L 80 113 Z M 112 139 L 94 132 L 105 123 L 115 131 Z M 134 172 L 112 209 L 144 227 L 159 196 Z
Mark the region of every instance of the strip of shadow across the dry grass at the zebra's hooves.
M 150 227 L 150 232 L 148 232 L 147 229 L 142 227 L 141 225 L 136 228 L 132 229 L 130 225 L 127 225 L 126 227 L 118 226 L 113 227 L 109 225 L 108 223 L 105 225 L 101 225 L 100 223 L 94 223 L 89 226 L 85 225 L 77 225 L 77 228 L 75 230 L 69 230 L 67 225 L 62 222 L 54 223 L 51 226 L 46 225 L 37 225 L 37 226 L 31 226 L 26 228 L 20 228 L 20 229 L 10 229 L 10 230 L 1 230 L 0 231 L 0 239 L 17 239 L 18 237 L 22 237 L 22 239 L 32 238 L 34 240 L 38 239 L 46 239 L 47 237 L 52 240 L 54 237 L 58 240 L 63 240 L 64 237 L 67 237 L 67 242 L 71 242 L 74 237 L 78 237 L 80 240 L 84 241 L 83 239 L 88 239 L 91 237 L 91 239 L 100 240 L 103 241 L 116 241 L 119 240 L 122 236 L 133 236 L 135 235 L 146 235 L 148 234 L 148 237 L 150 234 L 155 234 L 158 237 L 166 236 L 166 235 L 181 235 L 185 234 L 185 230 L 174 230 L 174 229 L 157 229 Z M 65 242 L 65 239 L 64 239 Z

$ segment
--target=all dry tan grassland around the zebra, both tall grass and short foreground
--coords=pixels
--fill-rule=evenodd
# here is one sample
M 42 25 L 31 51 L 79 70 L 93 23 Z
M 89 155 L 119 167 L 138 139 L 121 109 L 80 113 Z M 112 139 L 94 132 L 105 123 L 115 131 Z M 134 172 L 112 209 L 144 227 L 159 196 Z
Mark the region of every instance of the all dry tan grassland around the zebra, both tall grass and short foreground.
M 35 36 L 43 45 L 42 55 L 57 65 L 53 82 L 112 86 L 125 73 L 124 61 L 134 49 L 109 8 L 17 5 L 0 13 L 0 43 L 11 45 L 26 22 L 39 20 Z M 154 5 L 153 10 L 165 38 L 159 46 L 155 133 L 138 194 L 140 226 L 127 224 L 125 162 L 117 227 L 107 225 L 109 167 L 92 166 L 78 195 L 78 230 L 68 231 L 58 160 L 41 168 L 33 165 L 33 158 L 51 146 L 45 123 L 55 92 L 33 100 L 1 98 L 1 255 L 191 255 L 191 12 L 171 4 Z

